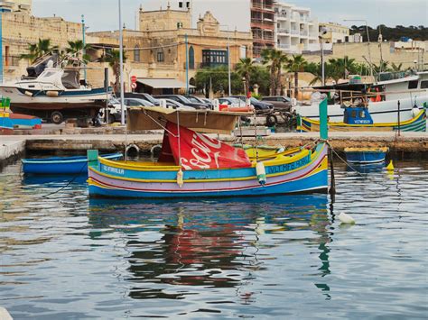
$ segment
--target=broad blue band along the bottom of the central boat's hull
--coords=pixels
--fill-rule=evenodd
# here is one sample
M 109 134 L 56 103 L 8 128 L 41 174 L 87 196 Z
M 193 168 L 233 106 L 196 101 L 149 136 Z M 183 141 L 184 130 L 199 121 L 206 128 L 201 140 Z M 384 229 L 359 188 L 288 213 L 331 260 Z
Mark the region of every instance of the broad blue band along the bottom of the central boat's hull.
M 89 185 L 91 197 L 141 197 L 141 198 L 172 198 L 172 197 L 261 197 L 293 193 L 312 193 L 326 191 L 328 188 L 328 170 L 322 170 L 312 176 L 267 187 L 252 187 L 243 190 L 218 192 L 146 192 L 124 189 L 104 188 Z

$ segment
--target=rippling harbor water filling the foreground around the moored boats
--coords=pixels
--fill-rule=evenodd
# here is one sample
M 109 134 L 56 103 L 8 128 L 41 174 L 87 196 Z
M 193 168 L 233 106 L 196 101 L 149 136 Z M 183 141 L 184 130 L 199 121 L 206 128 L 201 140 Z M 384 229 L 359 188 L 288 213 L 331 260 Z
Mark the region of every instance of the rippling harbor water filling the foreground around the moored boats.
M 336 167 L 331 204 L 89 200 L 85 178 L 9 165 L 0 306 L 14 319 L 426 318 L 428 161 Z

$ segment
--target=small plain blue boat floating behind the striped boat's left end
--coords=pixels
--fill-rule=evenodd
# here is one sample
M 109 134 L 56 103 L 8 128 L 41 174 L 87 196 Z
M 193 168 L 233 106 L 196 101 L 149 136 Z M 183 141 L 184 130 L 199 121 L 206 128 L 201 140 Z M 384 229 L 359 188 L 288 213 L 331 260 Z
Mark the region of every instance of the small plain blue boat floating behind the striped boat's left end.
M 122 153 L 101 156 L 107 160 L 120 160 Z M 88 157 L 52 157 L 44 159 L 23 159 L 23 173 L 34 175 L 87 175 Z

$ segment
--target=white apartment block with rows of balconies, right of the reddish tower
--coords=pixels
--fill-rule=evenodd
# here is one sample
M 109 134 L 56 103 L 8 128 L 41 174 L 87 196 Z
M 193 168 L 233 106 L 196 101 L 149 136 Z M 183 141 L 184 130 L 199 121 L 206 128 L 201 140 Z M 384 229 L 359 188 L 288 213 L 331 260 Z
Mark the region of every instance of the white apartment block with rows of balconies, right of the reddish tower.
M 276 2 L 274 4 L 274 41 L 285 53 L 320 51 L 318 20 L 311 9 Z

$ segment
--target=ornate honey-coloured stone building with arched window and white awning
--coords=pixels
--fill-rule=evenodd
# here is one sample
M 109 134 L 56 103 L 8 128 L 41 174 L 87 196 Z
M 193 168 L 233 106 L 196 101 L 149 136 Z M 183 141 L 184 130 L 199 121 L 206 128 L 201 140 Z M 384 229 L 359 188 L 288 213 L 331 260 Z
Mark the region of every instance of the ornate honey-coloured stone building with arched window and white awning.
M 252 57 L 251 32 L 223 31 L 209 12 L 192 29 L 188 10 L 172 10 L 170 6 L 157 11 L 140 8 L 139 31 L 125 29 L 123 34 L 127 90 L 129 79 L 136 76 L 139 92 L 183 91 L 187 78 L 193 83 L 197 69 L 228 66 L 228 47 L 231 69 L 240 58 Z M 88 36 L 91 41 L 117 45 L 119 32 L 90 32 Z

